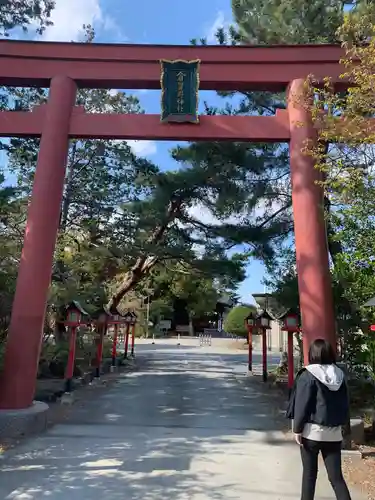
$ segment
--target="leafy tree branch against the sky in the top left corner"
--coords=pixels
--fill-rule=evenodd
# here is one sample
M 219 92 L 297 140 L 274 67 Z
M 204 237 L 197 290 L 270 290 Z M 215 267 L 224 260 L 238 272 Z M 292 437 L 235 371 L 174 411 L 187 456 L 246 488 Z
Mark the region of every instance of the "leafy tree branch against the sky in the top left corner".
M 2 0 L 0 2 L 0 35 L 9 36 L 9 31 L 20 27 L 24 32 L 31 24 L 43 33 L 52 24 L 51 12 L 54 0 Z

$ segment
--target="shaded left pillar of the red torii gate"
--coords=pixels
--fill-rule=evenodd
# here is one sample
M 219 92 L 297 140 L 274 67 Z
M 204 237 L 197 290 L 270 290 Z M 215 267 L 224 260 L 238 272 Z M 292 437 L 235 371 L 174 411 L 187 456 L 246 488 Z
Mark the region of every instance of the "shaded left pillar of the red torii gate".
M 0 381 L 3 409 L 34 399 L 75 96 L 73 80 L 52 78 Z

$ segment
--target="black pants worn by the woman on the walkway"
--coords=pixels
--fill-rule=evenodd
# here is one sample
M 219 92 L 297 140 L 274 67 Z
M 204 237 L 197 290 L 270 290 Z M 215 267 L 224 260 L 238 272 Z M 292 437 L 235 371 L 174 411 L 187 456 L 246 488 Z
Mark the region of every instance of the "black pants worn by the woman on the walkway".
M 328 479 L 338 500 L 351 500 L 341 470 L 341 442 L 311 441 L 303 439 L 301 458 L 303 465 L 301 500 L 314 500 L 318 476 L 318 456 L 322 452 Z

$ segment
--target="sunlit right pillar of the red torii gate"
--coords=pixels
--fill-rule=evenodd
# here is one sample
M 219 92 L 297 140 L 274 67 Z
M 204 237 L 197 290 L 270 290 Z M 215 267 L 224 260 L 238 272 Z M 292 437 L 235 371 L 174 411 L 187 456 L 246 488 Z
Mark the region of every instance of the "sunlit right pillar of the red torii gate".
M 315 168 L 314 159 L 303 152 L 307 143 L 317 141 L 307 102 L 305 80 L 294 80 L 288 93 L 290 172 L 305 363 L 309 346 L 317 337 L 336 349 L 324 192 L 318 184 L 322 173 Z

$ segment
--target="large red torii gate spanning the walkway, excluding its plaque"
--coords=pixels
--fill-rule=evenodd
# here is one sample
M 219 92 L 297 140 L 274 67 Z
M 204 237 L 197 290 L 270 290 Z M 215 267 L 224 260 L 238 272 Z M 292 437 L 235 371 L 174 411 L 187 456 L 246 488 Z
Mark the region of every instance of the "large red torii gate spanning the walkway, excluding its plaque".
M 294 230 L 305 347 L 336 342 L 323 192 L 319 171 L 302 153 L 316 140 L 310 116 L 294 99 L 304 79 L 342 82 L 335 45 L 222 47 L 0 41 L 0 85 L 50 87 L 33 112 L 1 112 L 0 136 L 41 137 L 24 247 L 0 382 L 0 408 L 32 404 L 69 138 L 289 142 Z M 77 87 L 158 89 L 160 60 L 201 60 L 202 90 L 289 89 L 288 110 L 272 117 L 202 116 L 200 124 L 160 123 L 159 115 L 88 114 Z M 304 126 L 301 127 L 301 123 Z

